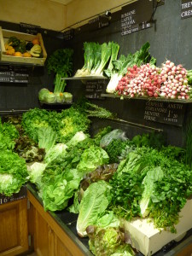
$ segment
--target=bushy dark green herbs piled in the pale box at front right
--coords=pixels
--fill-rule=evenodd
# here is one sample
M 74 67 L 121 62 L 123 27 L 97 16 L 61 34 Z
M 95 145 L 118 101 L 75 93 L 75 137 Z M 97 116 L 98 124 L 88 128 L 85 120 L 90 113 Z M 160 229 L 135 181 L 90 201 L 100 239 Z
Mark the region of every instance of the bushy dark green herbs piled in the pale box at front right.
M 144 183 L 144 178 L 152 170 L 153 176 Z M 156 180 L 158 171 L 162 174 Z M 110 181 L 113 186 L 111 208 L 128 220 L 141 217 L 141 201 L 145 195 L 148 202 L 145 214 L 153 218 L 155 227 L 176 232 L 178 213 L 192 195 L 191 183 L 192 172 L 188 166 L 156 149 L 137 148 L 121 161 Z M 153 189 L 150 189 L 152 184 Z M 146 189 L 149 194 L 143 194 Z

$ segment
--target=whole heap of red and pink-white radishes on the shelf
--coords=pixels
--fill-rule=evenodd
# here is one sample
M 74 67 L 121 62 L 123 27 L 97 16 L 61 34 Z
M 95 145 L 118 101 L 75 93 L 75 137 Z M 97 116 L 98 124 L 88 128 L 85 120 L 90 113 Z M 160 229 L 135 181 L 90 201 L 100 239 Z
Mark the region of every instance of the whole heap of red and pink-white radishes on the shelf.
M 162 67 L 145 64 L 127 68 L 125 76 L 119 80 L 116 91 L 119 95 L 149 96 L 167 99 L 188 100 L 191 84 L 188 72 L 182 65 L 166 61 Z

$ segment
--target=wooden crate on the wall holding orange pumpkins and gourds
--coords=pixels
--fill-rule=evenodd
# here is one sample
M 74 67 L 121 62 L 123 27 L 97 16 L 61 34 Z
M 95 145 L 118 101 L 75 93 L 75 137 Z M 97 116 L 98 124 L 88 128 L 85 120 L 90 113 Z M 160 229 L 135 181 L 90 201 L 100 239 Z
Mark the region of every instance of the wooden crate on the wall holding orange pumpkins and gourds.
M 17 57 L 6 55 L 6 50 L 4 44 L 7 43 L 10 37 L 16 37 L 18 39 L 25 40 L 26 43 L 32 42 L 34 38 L 38 38 L 42 51 L 43 51 L 43 58 L 36 58 L 36 57 Z M 2 29 L 0 26 L 0 61 L 9 62 L 9 63 L 19 63 L 19 64 L 27 64 L 27 65 L 34 65 L 34 66 L 44 66 L 44 61 L 47 58 L 46 50 L 44 49 L 44 41 L 42 35 L 38 33 L 37 35 L 31 35 L 21 32 L 14 32 L 10 30 Z

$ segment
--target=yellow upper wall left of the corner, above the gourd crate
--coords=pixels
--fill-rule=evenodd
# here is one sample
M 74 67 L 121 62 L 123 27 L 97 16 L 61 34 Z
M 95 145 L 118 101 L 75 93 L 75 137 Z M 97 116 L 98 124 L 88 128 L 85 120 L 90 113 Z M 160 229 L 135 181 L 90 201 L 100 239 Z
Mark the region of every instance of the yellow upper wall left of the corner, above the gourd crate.
M 0 20 L 60 31 L 66 26 L 66 5 L 48 0 L 0 0 Z

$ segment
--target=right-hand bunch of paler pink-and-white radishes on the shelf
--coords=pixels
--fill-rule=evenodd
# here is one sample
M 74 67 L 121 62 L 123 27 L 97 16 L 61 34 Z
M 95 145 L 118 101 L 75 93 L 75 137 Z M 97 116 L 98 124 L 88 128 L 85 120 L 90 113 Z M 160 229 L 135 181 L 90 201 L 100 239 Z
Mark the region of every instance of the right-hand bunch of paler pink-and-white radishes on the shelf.
M 171 99 L 189 99 L 190 86 L 187 79 L 187 70 L 182 65 L 177 65 L 172 61 L 162 64 L 161 80 L 163 84 L 160 88 L 160 96 Z

